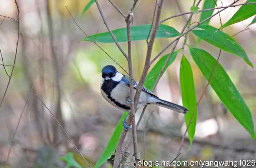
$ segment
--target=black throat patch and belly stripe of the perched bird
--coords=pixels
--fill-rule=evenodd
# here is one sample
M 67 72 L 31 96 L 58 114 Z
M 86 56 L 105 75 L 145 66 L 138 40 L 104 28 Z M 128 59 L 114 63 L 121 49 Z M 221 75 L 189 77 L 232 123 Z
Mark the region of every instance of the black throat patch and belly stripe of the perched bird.
M 119 102 L 117 102 L 114 98 L 111 97 L 111 91 L 116 87 L 116 85 L 118 85 L 119 82 L 116 82 L 112 79 L 109 80 L 104 80 L 104 83 L 101 86 L 101 89 L 106 93 L 106 95 L 108 96 L 108 98 L 115 103 L 115 105 L 117 105 L 120 108 L 123 108 L 125 110 L 129 110 L 130 107 L 123 105 Z

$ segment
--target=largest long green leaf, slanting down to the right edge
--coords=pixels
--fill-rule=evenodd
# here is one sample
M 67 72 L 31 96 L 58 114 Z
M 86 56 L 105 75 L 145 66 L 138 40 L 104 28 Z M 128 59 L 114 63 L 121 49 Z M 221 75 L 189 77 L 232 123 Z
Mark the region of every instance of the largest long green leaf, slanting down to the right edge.
M 252 114 L 223 67 L 204 50 L 190 47 L 190 53 L 208 81 L 214 72 L 210 80 L 211 87 L 226 108 L 255 139 Z

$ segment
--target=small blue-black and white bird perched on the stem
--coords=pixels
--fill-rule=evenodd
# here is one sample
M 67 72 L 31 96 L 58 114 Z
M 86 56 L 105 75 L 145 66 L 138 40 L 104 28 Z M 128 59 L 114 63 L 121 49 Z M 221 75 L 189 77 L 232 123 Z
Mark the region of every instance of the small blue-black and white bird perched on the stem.
M 122 111 L 130 112 L 130 105 L 133 103 L 130 99 L 130 81 L 129 76 L 125 76 L 119 73 L 115 66 L 107 65 L 101 70 L 101 94 L 111 105 L 115 106 Z M 138 82 L 133 82 L 134 93 L 136 92 Z M 158 98 L 149 89 L 142 87 L 141 95 L 138 100 L 137 109 L 144 107 L 145 105 L 158 105 L 178 113 L 186 114 L 188 109 L 184 106 L 177 105 L 172 102 L 165 101 Z M 123 121 L 124 128 L 126 130 L 131 129 L 126 124 L 128 115 Z

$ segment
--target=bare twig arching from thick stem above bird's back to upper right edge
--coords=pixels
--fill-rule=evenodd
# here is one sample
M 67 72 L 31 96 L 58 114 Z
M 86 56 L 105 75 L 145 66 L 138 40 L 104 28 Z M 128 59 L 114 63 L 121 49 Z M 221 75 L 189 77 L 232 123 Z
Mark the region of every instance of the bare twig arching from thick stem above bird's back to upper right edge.
M 174 39 L 171 43 L 169 43 L 166 47 L 164 47 L 164 49 L 163 49 L 160 53 L 158 53 L 157 56 L 154 57 L 154 59 L 152 59 L 152 61 L 150 62 L 150 64 L 152 65 L 152 63 L 153 63 L 163 52 L 165 52 L 165 50 L 167 50 L 175 41 L 179 40 L 182 36 L 184 36 L 185 34 L 187 34 L 188 32 L 190 32 L 191 30 L 193 30 L 194 28 L 196 28 L 196 27 L 199 26 L 200 24 L 202 24 L 202 23 L 206 22 L 207 20 L 211 19 L 211 18 L 214 17 L 216 14 L 219 14 L 221 11 L 223 11 L 223 10 L 229 8 L 229 7 L 232 7 L 232 5 L 233 5 L 234 3 L 237 3 L 238 1 L 239 1 L 239 0 L 235 0 L 233 3 L 230 4 L 230 6 L 225 7 L 224 9 L 222 9 L 222 10 L 220 10 L 220 11 L 214 13 L 212 16 L 207 17 L 207 18 L 204 19 L 203 21 L 199 22 L 196 26 L 193 26 L 193 27 L 191 27 L 190 29 L 188 29 L 186 32 L 181 33 L 180 36 L 178 36 L 178 37 L 177 37 L 176 39 Z

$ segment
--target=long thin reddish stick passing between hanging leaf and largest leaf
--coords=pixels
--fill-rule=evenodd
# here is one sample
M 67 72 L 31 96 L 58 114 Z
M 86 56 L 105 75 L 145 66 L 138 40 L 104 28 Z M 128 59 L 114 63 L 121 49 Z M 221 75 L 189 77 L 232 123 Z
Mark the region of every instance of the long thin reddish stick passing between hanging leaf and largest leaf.
M 214 3 L 215 3 L 216 6 L 217 6 L 216 1 L 214 1 Z M 218 6 L 217 6 L 217 7 L 218 7 Z M 217 10 L 219 11 L 219 9 L 217 9 Z M 222 26 L 222 21 L 221 21 L 220 13 L 219 13 L 219 18 L 220 18 L 220 26 Z M 222 31 L 222 29 L 221 29 L 221 31 Z M 213 72 L 211 73 L 211 76 L 210 76 L 210 78 L 209 78 L 209 81 L 208 81 L 208 83 L 207 83 L 207 85 L 206 85 L 206 87 L 205 87 L 203 93 L 201 94 L 201 96 L 200 96 L 200 98 L 199 98 L 199 100 L 198 100 L 198 102 L 197 102 L 196 108 L 193 110 L 193 114 L 192 114 L 192 116 L 191 116 L 191 118 L 190 118 L 190 120 L 189 120 L 187 129 L 186 129 L 186 131 L 185 131 L 185 133 L 184 133 L 184 135 L 183 135 L 183 137 L 182 137 L 181 144 L 180 144 L 180 148 L 178 149 L 178 152 L 177 152 L 177 156 L 173 159 L 173 161 L 174 161 L 175 159 L 177 159 L 178 156 L 181 154 L 181 153 L 180 153 L 180 152 L 181 152 L 181 148 L 182 148 L 182 146 L 183 146 L 183 142 L 184 142 L 185 136 L 186 136 L 186 134 L 187 134 L 188 128 L 189 128 L 190 124 L 192 123 L 192 119 L 193 119 L 193 117 L 194 117 L 194 115 L 195 115 L 195 113 L 196 113 L 196 109 L 197 109 L 197 107 L 198 107 L 198 105 L 199 105 L 201 99 L 203 98 L 204 93 L 206 92 L 206 89 L 207 89 L 207 87 L 209 86 L 211 79 L 213 78 L 213 75 L 214 75 L 214 72 L 215 72 L 215 70 L 216 70 L 217 64 L 219 63 L 220 54 L 221 54 L 221 50 L 219 51 L 219 56 L 218 56 L 218 59 L 217 59 L 216 64 L 214 65 Z M 176 166 L 175 166 L 174 168 L 176 168 Z

